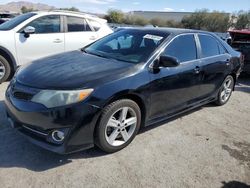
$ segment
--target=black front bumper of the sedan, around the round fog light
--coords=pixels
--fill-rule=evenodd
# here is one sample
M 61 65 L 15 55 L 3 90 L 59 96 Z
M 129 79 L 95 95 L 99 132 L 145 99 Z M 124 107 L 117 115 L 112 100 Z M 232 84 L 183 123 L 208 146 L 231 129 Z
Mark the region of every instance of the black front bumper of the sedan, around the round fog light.
M 32 143 L 59 153 L 67 154 L 94 146 L 94 128 L 100 108 L 86 103 L 47 109 L 43 105 L 24 101 L 6 91 L 6 113 L 10 124 Z M 56 143 L 51 138 L 54 130 L 65 131 L 65 139 Z

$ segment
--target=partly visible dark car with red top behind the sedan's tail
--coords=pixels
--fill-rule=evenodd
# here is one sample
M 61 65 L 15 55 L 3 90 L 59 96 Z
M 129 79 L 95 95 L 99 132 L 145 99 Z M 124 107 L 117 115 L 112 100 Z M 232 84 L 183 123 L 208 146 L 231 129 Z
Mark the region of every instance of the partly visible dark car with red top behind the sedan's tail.
M 250 74 L 250 30 L 230 30 L 229 44 L 243 54 L 243 72 Z

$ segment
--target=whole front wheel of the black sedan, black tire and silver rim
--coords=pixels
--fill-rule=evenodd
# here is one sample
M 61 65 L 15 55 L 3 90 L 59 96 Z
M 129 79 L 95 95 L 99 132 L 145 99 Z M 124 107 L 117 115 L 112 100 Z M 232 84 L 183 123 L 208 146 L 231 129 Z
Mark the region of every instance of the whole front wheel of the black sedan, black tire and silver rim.
M 114 153 L 129 145 L 141 124 L 140 107 L 132 100 L 122 99 L 106 106 L 96 128 L 96 144 Z

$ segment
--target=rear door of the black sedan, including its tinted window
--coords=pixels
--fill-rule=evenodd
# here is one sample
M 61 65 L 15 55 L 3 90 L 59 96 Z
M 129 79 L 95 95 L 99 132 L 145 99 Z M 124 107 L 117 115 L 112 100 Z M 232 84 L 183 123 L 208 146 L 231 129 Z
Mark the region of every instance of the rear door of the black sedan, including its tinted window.
M 230 54 L 220 42 L 208 34 L 199 34 L 200 44 L 200 97 L 212 97 L 220 88 L 230 66 Z

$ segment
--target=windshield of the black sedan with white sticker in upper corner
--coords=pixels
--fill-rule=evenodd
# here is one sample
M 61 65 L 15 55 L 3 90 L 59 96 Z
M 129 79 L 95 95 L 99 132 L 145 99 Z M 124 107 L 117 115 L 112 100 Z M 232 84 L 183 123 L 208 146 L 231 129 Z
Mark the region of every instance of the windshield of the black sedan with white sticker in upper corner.
M 86 53 L 129 63 L 145 62 L 169 36 L 157 30 L 124 29 L 83 49 Z

